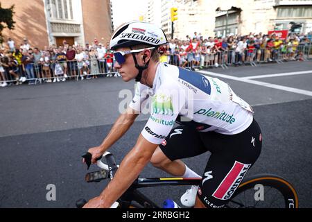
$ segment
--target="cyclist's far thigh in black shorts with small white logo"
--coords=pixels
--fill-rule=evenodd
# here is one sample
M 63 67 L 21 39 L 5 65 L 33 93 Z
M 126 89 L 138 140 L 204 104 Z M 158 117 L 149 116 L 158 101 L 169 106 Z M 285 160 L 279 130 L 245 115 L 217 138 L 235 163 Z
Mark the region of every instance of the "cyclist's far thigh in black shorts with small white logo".
M 171 161 L 207 152 L 199 133 L 184 125 L 173 128 L 159 148 Z

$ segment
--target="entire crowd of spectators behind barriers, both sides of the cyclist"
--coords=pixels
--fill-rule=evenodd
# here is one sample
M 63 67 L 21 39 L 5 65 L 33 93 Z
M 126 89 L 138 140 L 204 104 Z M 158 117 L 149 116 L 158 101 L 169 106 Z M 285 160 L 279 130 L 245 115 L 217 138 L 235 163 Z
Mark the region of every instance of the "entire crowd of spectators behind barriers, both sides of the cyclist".
M 270 62 L 272 60 L 302 60 L 302 46 L 309 46 L 311 34 L 289 34 L 285 39 L 275 33 L 249 35 L 229 34 L 226 37 L 187 35 L 185 40 L 173 39 L 159 47 L 160 61 L 181 67 L 218 67 L 242 65 L 245 62 Z M 0 48 L 0 86 L 20 85 L 26 82 L 52 83 L 69 78 L 81 80 L 98 76 L 120 76 L 114 70 L 114 56 L 106 46 L 94 39 L 85 46 L 55 44 L 44 49 L 31 47 L 25 37 L 17 46 L 8 38 L 6 48 Z

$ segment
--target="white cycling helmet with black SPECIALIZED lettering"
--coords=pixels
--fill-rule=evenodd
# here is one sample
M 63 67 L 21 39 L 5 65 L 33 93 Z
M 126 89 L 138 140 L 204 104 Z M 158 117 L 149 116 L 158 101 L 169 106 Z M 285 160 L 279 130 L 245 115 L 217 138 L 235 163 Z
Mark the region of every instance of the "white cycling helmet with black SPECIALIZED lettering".
M 135 46 L 137 44 L 150 44 L 158 46 L 168 42 L 164 31 L 155 24 L 148 22 L 128 22 L 119 26 L 110 39 L 110 49 Z

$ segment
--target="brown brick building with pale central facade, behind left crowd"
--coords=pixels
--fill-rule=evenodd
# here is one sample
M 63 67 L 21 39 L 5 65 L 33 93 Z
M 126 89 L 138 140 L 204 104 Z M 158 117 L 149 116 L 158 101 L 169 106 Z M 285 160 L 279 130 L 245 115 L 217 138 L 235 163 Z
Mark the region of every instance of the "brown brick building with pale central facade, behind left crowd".
M 2 8 L 15 5 L 15 29 L 3 30 L 4 41 L 11 37 L 16 46 L 27 37 L 31 46 L 85 44 L 97 38 L 106 44 L 112 34 L 112 7 L 109 0 L 1 0 Z

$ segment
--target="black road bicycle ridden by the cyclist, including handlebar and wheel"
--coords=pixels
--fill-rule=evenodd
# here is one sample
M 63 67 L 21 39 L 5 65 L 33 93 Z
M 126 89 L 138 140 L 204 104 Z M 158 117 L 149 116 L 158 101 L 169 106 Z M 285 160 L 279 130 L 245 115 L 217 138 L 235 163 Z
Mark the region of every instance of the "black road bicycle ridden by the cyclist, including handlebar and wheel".
M 87 164 L 87 169 L 91 165 L 91 153 L 83 155 Z M 101 159 L 105 157 L 107 164 Z M 100 171 L 87 173 L 87 182 L 100 182 L 109 178 L 112 180 L 118 169 L 112 153 L 105 152 L 97 160 Z M 120 208 L 161 208 L 159 205 L 142 194 L 138 189 L 144 187 L 164 187 L 164 186 L 190 186 L 200 185 L 201 178 L 137 178 L 135 182 L 117 200 Z M 76 207 L 83 207 L 87 200 L 80 199 L 76 202 Z M 116 206 L 115 205 L 115 206 Z M 274 174 L 262 173 L 249 178 L 244 178 L 241 185 L 232 195 L 232 199 L 225 205 L 227 208 L 297 208 L 297 192 L 290 182 Z

